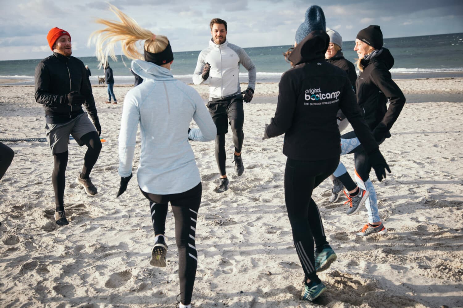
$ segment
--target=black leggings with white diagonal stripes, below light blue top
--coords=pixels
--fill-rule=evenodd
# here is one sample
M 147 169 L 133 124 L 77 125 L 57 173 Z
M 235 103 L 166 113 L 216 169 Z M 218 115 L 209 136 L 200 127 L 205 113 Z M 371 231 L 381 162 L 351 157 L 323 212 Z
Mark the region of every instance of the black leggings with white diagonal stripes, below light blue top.
M 141 190 L 141 188 L 140 188 Z M 167 205 L 170 202 L 175 218 L 175 242 L 178 249 L 178 275 L 180 279 L 180 301 L 184 305 L 191 302 L 193 295 L 198 254 L 196 253 L 196 220 L 201 203 L 201 182 L 183 193 L 158 195 L 146 193 L 144 196 L 150 202 L 151 220 L 155 234 L 164 234 L 167 215 Z

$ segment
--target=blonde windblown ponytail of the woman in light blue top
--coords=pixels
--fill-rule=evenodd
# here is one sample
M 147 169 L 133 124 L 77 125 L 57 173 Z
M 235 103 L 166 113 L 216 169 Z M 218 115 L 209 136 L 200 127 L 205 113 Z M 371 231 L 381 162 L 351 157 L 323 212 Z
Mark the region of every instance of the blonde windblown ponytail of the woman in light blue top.
M 120 22 L 101 18 L 95 20 L 98 24 L 106 25 L 106 28 L 94 31 L 88 39 L 88 45 L 94 42 L 96 57 L 100 63 L 107 63 L 108 55 L 117 61 L 114 47 L 118 42 L 121 43 L 125 56 L 132 60 L 144 60 L 144 54 L 141 54 L 137 47 L 137 42 L 141 40 L 145 40 L 143 48 L 150 53 L 155 54 L 166 49 L 169 44 L 167 36 L 155 35 L 150 30 L 143 29 L 133 18 L 125 15 L 116 6 L 110 4 L 109 10 L 116 14 Z

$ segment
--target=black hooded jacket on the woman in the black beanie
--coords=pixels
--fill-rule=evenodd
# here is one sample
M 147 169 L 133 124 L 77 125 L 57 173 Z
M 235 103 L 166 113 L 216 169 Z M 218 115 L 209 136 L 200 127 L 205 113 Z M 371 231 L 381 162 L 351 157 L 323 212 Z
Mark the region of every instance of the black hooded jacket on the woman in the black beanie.
M 405 96 L 391 78 L 389 70 L 394 58 L 387 48 L 370 60 L 361 60 L 363 72 L 357 79 L 357 101 L 365 113 L 365 121 L 377 141 L 389 138 L 394 122 L 405 105 Z M 389 99 L 389 108 L 386 103 Z

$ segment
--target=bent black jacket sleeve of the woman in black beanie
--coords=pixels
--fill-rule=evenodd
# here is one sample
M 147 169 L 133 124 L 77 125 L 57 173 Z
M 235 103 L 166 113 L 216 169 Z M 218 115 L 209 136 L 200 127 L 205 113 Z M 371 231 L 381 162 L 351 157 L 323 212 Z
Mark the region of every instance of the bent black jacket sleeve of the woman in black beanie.
M 373 133 L 377 140 L 384 137 L 391 129 L 405 105 L 405 96 L 399 86 L 392 80 L 391 73 L 378 66 L 371 72 L 371 79 L 384 95 L 389 99 L 389 108 L 381 122 L 375 127 Z

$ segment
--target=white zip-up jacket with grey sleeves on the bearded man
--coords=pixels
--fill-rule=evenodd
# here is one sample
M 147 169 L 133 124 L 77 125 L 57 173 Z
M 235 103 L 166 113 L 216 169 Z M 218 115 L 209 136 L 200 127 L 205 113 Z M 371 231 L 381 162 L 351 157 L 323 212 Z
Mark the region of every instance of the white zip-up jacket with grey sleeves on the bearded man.
M 196 69 L 193 73 L 193 83 L 202 84 L 202 71 L 206 63 L 211 65 L 209 71 L 209 101 L 213 98 L 230 97 L 241 92 L 239 86 L 239 65 L 248 70 L 248 87 L 256 89 L 256 66 L 243 48 L 225 40 L 217 45 L 209 41 L 209 47 L 200 52 Z

